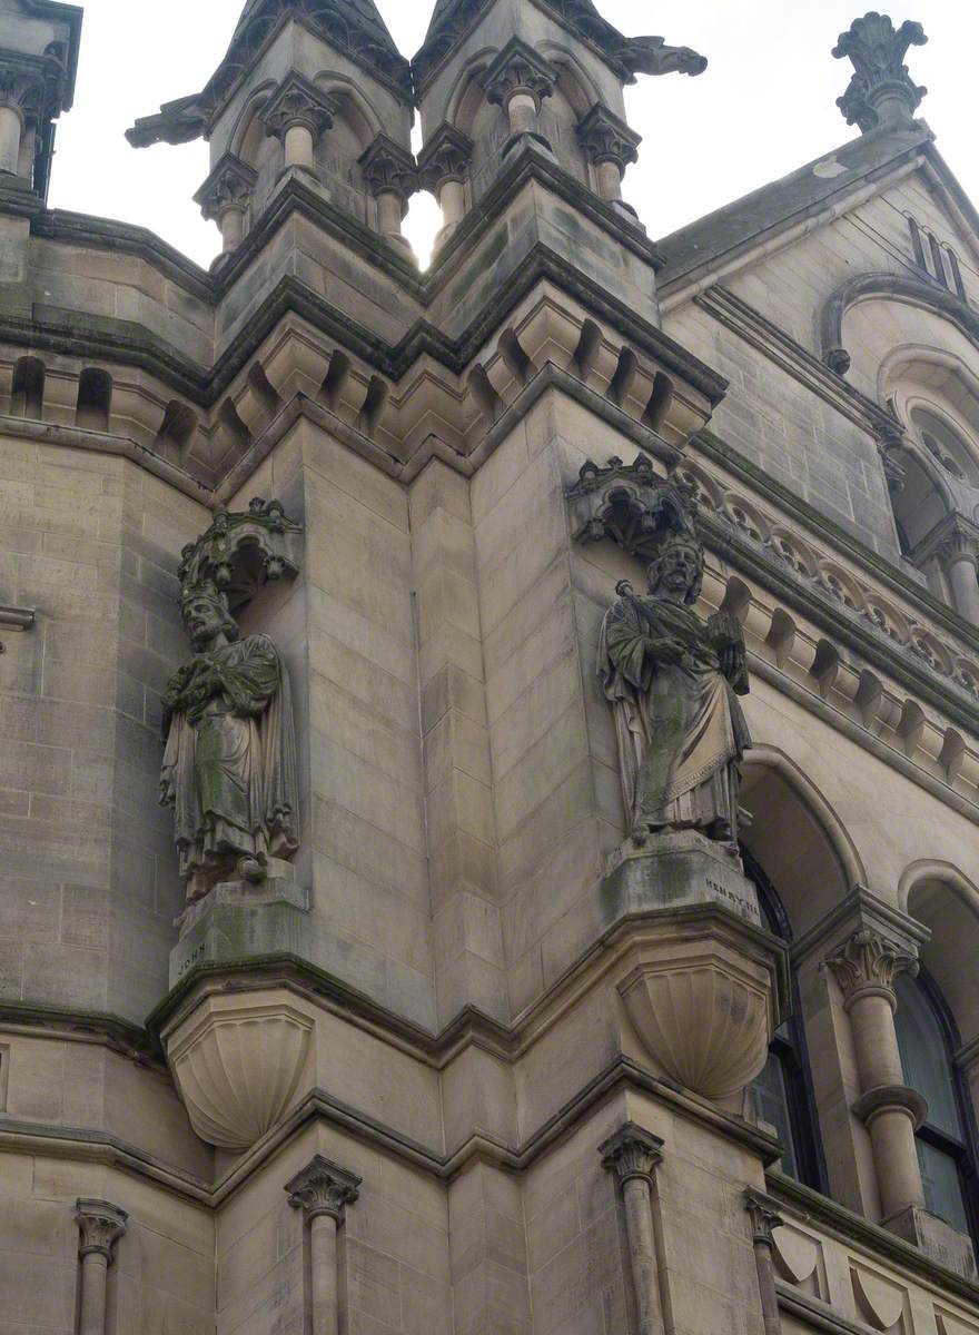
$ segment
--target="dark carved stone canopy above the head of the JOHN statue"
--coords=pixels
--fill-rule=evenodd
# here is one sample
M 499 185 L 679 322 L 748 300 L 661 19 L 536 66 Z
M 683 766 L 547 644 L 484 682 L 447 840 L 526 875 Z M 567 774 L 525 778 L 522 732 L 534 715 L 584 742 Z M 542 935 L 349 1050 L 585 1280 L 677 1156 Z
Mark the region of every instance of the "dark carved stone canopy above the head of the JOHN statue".
M 214 585 L 234 614 L 268 582 L 299 571 L 298 538 L 279 501 L 254 499 L 244 511 L 219 510 L 211 527 L 183 549 L 183 590 Z

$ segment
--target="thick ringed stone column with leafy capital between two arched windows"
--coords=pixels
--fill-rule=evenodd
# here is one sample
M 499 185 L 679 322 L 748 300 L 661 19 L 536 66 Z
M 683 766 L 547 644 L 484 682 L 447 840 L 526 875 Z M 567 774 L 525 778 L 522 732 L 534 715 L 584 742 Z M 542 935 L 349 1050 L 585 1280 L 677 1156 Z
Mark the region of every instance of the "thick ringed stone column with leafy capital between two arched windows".
M 894 941 L 861 928 L 825 961 L 840 985 L 856 1049 L 860 1097 L 853 1112 L 867 1125 L 873 1151 L 883 1219 L 924 1208 L 915 1131 L 927 1107 L 904 1084 L 894 1016 L 894 981 L 918 972 L 916 957 Z

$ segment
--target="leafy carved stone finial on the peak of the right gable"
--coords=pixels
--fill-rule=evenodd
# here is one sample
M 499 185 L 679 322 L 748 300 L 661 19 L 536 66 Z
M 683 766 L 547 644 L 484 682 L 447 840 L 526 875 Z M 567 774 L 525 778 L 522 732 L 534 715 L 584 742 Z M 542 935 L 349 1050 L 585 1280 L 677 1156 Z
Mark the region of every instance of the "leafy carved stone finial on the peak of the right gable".
M 883 127 L 910 125 L 927 88 L 919 88 L 908 75 L 904 56 L 908 47 L 923 47 L 928 39 L 920 23 L 903 23 L 895 31 L 886 13 L 865 13 L 855 19 L 833 47 L 833 56 L 853 61 L 853 77 L 836 105 L 848 125 L 863 134 Z

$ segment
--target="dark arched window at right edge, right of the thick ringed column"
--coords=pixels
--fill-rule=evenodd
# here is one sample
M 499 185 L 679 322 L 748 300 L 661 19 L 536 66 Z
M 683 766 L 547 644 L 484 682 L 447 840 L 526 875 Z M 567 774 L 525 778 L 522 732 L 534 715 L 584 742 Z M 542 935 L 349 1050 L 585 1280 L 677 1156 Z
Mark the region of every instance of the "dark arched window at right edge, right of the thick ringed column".
M 975 1120 L 952 1053 L 958 1033 L 934 980 L 903 976 L 896 983 L 895 1027 L 904 1079 L 928 1104 L 915 1141 L 924 1203 L 960 1234 L 979 1240 L 979 1181 Z

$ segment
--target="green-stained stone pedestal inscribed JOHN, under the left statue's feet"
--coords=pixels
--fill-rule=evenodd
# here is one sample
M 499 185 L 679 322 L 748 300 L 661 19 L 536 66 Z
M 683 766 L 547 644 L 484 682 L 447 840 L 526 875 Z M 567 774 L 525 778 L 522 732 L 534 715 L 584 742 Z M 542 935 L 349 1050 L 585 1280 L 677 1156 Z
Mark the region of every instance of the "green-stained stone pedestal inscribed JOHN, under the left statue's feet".
M 309 955 L 310 892 L 292 880 L 291 864 L 270 858 L 268 870 L 258 885 L 222 881 L 186 909 L 178 920 L 180 941 L 170 956 L 171 988 L 206 965 Z

